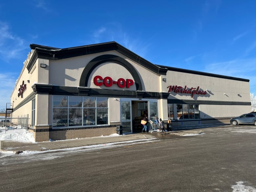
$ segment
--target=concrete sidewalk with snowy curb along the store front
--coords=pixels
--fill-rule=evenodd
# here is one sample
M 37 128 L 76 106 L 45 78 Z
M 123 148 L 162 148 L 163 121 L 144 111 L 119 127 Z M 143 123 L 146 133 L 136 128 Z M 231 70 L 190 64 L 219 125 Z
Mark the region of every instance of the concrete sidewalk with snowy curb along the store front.
M 83 138 L 83 139 L 69 139 L 69 140 L 57 140 L 57 141 L 45 141 L 45 142 L 17 142 L 13 140 L 0 141 L 0 151 L 2 152 L 13 152 L 13 153 L 22 153 L 23 151 L 48 151 L 48 150 L 57 150 L 57 149 L 66 149 L 73 147 L 83 147 L 89 145 L 98 145 L 106 143 L 115 143 L 115 142 L 125 142 L 131 141 L 136 142 L 143 139 L 162 139 L 165 136 L 171 135 L 184 135 L 184 134 L 200 134 L 202 130 L 177 130 L 172 132 L 167 132 L 167 134 L 161 133 L 137 133 L 121 136 L 112 136 L 112 137 L 93 137 L 93 138 Z

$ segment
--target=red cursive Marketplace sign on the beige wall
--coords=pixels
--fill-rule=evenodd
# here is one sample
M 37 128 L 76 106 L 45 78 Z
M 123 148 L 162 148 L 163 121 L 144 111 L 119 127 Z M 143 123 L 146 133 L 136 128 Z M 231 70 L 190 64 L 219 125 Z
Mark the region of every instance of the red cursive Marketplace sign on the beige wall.
M 173 91 L 174 93 L 184 93 L 184 94 L 191 94 L 191 97 L 193 98 L 193 96 L 196 95 L 206 95 L 207 92 L 206 91 L 201 91 L 199 90 L 199 86 L 197 88 L 193 88 L 191 87 L 190 89 L 187 89 L 187 86 L 185 85 L 184 89 L 181 86 L 178 85 L 170 85 L 167 88 L 169 88 L 168 93 L 170 93 L 171 91 Z

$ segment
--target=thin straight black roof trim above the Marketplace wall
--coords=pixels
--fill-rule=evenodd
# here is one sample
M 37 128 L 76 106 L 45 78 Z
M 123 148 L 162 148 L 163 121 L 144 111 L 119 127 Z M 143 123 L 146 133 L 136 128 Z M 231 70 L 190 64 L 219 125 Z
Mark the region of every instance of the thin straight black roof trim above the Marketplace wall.
M 249 79 L 243 79 L 243 78 L 238 78 L 238 77 L 217 75 L 217 74 L 212 74 L 212 73 L 205 73 L 205 72 L 193 71 L 193 70 L 188 70 L 188 69 L 180 69 L 180 68 L 175 68 L 175 67 L 167 67 L 167 66 L 162 66 L 162 65 L 157 65 L 157 66 L 162 67 L 162 68 L 164 67 L 164 68 L 168 69 L 168 71 L 176 71 L 176 72 L 182 72 L 182 73 L 189 73 L 189 74 L 195 74 L 195 75 L 204 75 L 204 76 L 231 79 L 231 80 L 237 80 L 237 81 L 245 81 L 245 82 L 250 81 Z

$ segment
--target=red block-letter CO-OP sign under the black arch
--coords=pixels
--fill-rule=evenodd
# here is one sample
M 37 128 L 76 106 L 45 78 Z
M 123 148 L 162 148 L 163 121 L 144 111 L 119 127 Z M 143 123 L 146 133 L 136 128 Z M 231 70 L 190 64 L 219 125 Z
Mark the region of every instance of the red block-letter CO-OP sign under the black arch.
M 104 84 L 106 87 L 111 87 L 113 84 L 117 84 L 120 88 L 130 88 L 134 83 L 132 79 L 119 78 L 117 81 L 113 81 L 111 77 L 102 78 L 99 75 L 94 77 L 93 82 L 96 86 L 102 86 Z

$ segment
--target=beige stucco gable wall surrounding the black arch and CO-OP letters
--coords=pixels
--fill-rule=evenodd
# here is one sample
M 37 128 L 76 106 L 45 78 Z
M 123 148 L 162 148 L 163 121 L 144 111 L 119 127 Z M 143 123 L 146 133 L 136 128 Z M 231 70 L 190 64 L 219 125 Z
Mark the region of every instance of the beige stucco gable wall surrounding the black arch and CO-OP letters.
M 61 59 L 57 61 L 49 62 L 49 84 L 60 85 L 60 86 L 79 86 L 80 76 L 84 70 L 84 67 L 89 63 L 92 59 L 102 54 L 114 54 L 126 59 L 129 63 L 133 65 L 135 70 L 138 71 L 138 74 L 141 78 L 142 89 L 143 91 L 147 90 L 150 92 L 160 92 L 161 82 L 159 81 L 162 78 L 160 75 L 154 74 L 148 69 L 140 66 L 134 61 L 125 58 L 120 53 L 115 51 L 104 52 L 104 53 L 96 53 L 85 56 L 72 57 L 68 59 Z M 56 75 L 56 72 L 58 75 Z M 106 87 L 106 86 L 96 86 L 93 83 L 93 78 L 96 75 L 100 75 L 103 78 L 106 76 L 111 77 L 113 80 L 117 80 L 119 78 L 128 78 L 132 79 L 132 75 L 119 64 L 116 63 L 103 63 L 98 66 L 90 75 L 88 87 L 91 88 L 102 88 L 102 89 L 116 89 L 116 90 L 131 90 L 135 91 L 135 84 L 131 86 L 129 89 L 127 88 L 119 88 L 115 87 Z

